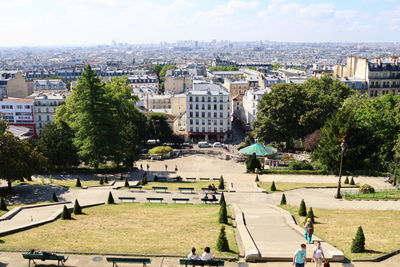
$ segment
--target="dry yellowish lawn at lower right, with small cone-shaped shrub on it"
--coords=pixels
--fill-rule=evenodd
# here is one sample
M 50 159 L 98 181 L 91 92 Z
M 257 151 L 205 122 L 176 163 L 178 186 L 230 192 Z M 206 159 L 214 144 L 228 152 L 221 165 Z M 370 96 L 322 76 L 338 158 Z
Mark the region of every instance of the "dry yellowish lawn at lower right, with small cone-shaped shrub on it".
M 305 220 L 297 214 L 297 207 L 280 206 L 288 210 L 299 225 Z M 342 250 L 349 259 L 375 258 L 400 249 L 400 211 L 328 210 L 314 209 L 315 235 Z M 365 253 L 351 253 L 351 242 L 358 226 L 366 239 Z

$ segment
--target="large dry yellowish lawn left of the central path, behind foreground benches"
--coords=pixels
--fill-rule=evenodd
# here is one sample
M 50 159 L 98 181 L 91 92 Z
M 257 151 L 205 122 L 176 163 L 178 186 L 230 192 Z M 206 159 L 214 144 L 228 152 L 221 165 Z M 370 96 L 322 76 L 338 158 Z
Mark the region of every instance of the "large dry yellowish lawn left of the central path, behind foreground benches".
M 233 228 L 226 227 L 231 252 L 215 250 L 219 206 L 185 204 L 103 205 L 84 209 L 74 220 L 58 220 L 2 237 L 2 249 L 187 255 L 210 246 L 217 256 L 237 257 Z

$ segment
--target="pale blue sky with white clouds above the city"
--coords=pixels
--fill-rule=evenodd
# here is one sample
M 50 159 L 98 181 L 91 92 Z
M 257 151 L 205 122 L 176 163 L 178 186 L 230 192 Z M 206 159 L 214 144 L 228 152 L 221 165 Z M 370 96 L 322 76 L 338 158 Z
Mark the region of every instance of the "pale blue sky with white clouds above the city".
M 0 0 L 0 46 L 399 42 L 400 0 Z

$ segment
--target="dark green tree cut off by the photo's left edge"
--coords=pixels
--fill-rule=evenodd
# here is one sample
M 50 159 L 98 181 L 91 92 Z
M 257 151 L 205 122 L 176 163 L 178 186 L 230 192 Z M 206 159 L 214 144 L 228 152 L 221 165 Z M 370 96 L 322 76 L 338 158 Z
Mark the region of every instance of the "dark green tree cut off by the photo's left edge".
M 29 140 L 20 140 L 8 132 L 0 135 L 0 179 L 7 181 L 10 190 L 13 181 L 30 179 L 46 164 L 47 159 Z

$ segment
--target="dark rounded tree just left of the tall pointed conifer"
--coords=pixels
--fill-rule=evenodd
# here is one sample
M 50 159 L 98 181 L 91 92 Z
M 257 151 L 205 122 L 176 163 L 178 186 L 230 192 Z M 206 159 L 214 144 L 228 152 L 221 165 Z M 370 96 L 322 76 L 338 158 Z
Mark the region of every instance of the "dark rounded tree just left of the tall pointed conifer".
M 49 159 L 50 167 L 79 165 L 78 150 L 73 144 L 73 137 L 72 129 L 62 120 L 46 125 L 37 145 L 39 151 Z

